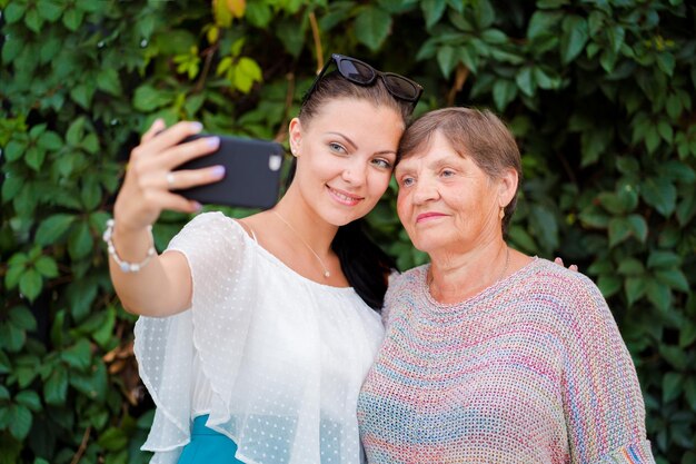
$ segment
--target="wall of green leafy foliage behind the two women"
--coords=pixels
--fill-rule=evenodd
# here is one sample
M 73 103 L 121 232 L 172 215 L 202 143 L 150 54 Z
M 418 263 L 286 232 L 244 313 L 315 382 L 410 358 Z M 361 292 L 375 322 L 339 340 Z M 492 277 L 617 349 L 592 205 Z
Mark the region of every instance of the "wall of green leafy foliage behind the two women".
M 0 464 L 143 463 L 151 403 L 100 235 L 156 117 L 282 139 L 322 58 L 489 107 L 525 184 L 510 243 L 608 298 L 660 463 L 696 462 L 696 34 L 683 0 L 0 0 Z M 394 213 L 369 219 L 407 268 Z M 229 210 L 238 215 L 247 211 Z M 159 249 L 186 217 L 156 226 Z M 617 392 L 620 394 L 620 392 Z

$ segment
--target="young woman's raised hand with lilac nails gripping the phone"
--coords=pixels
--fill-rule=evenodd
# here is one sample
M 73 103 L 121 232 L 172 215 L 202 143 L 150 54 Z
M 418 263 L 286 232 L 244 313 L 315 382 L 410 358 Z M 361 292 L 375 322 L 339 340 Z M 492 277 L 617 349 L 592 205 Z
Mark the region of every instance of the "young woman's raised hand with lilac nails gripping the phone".
M 123 185 L 116 199 L 113 217 L 120 230 L 137 231 L 153 224 L 163 209 L 193 213 L 200 205 L 172 189 L 182 189 L 220 180 L 222 166 L 172 171 L 177 166 L 215 151 L 220 140 L 202 137 L 180 144 L 201 131 L 200 122 L 183 121 L 166 128 L 156 120 L 130 154 Z M 179 145 L 180 144 L 180 145 Z

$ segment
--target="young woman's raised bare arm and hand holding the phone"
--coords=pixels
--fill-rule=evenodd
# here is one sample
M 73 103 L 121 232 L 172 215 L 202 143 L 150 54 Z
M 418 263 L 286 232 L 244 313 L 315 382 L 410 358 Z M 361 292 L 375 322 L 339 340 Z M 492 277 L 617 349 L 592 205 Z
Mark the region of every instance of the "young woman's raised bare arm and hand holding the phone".
M 153 247 L 151 225 L 163 209 L 195 213 L 200 208 L 172 194 L 172 180 L 177 188 L 187 188 L 220 179 L 215 168 L 177 171 L 176 178 L 170 175 L 176 166 L 217 148 L 215 138 L 179 145 L 200 130 L 198 122 L 179 122 L 165 130 L 165 124 L 157 120 L 132 150 L 113 208 L 111 243 L 120 260 L 142 263 L 147 258 Z M 180 253 L 155 255 L 137 272 L 123 272 L 110 254 L 109 272 L 116 293 L 130 313 L 169 316 L 190 306 L 191 272 Z

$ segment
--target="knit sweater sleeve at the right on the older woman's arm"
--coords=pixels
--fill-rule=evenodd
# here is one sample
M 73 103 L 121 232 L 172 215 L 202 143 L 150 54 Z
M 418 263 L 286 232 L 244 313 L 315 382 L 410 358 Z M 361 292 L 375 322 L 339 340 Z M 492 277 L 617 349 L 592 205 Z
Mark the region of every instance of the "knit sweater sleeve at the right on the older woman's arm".
M 574 279 L 561 314 L 563 396 L 573 463 L 654 463 L 630 354 L 601 293 Z

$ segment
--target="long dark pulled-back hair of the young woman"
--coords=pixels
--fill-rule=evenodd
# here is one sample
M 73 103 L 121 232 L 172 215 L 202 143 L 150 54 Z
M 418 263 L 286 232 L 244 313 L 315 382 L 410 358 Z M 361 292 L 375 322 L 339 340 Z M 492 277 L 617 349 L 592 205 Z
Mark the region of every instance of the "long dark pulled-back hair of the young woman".
M 324 105 L 338 98 L 367 100 L 375 106 L 392 108 L 401 115 L 404 126 L 407 125 L 412 110 L 410 103 L 395 99 L 381 79 L 364 87 L 346 80 L 334 71 L 317 82 L 312 93 L 302 103 L 299 112 L 302 127 L 311 124 L 311 119 Z M 295 166 L 294 158 L 286 187 L 292 182 Z M 339 227 L 331 249 L 338 255 L 341 270 L 350 286 L 368 306 L 380 310 L 387 292 L 388 276 L 396 268 L 396 263 L 368 236 L 366 229 L 367 221 L 364 218 Z

